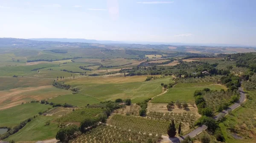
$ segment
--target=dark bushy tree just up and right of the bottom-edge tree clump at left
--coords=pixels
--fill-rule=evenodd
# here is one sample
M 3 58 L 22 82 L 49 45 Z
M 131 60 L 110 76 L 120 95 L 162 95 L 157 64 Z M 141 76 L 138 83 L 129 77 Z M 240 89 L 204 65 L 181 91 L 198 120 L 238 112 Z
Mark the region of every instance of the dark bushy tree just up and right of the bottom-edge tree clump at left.
M 97 118 L 85 118 L 84 121 L 80 123 L 80 131 L 82 133 L 87 132 L 90 128 L 93 128 L 99 123 Z

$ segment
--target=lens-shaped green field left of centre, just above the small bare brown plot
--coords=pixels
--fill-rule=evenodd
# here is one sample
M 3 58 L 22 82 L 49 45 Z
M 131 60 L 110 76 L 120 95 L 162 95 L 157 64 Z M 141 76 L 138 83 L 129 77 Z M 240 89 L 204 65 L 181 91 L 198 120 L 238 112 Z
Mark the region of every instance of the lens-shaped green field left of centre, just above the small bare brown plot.
M 89 96 L 81 95 L 81 94 L 67 94 L 58 96 L 48 100 L 49 102 L 53 102 L 55 104 L 72 104 L 74 106 L 84 107 L 87 104 L 97 104 L 100 101 L 97 99 L 91 98 Z

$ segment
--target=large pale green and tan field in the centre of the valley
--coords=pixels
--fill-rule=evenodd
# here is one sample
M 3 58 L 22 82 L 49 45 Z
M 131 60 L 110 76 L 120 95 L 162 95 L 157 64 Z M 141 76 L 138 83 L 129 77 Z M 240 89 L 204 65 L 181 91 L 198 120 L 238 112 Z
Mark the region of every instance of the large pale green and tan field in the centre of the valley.
M 137 103 L 162 93 L 162 82 L 173 82 L 168 77 L 151 81 L 145 81 L 146 78 L 147 76 L 79 78 L 65 80 L 65 84 L 77 87 L 82 95 L 99 101 L 131 98 L 133 103 Z

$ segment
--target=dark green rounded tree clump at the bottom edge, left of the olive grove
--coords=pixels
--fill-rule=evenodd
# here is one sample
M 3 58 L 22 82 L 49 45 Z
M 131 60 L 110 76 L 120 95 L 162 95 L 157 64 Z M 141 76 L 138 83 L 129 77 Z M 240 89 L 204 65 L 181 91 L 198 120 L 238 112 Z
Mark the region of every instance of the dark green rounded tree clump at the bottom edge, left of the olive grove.
M 78 135 L 79 128 L 76 125 L 67 126 L 58 130 L 55 138 L 61 142 L 68 142 Z

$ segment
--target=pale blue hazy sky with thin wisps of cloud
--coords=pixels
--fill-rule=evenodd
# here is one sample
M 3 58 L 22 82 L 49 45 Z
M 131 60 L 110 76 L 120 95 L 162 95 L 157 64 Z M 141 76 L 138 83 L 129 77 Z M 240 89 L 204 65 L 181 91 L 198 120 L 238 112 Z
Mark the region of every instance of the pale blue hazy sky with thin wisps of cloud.
M 0 0 L 0 37 L 256 46 L 256 0 Z

